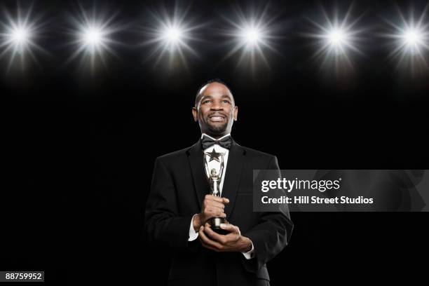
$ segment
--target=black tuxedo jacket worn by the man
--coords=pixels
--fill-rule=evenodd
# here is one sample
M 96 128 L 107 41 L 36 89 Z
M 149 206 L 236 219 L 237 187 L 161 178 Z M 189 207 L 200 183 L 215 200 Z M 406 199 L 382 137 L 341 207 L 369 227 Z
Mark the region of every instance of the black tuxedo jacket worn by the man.
M 255 256 L 207 250 L 191 242 L 189 226 L 210 192 L 200 141 L 192 147 L 156 158 L 145 212 L 149 242 L 171 247 L 170 285 L 269 285 L 266 262 L 288 243 L 293 224 L 287 208 L 253 212 L 253 170 L 278 170 L 277 158 L 233 142 L 222 196 L 229 198 L 226 219 L 252 240 Z

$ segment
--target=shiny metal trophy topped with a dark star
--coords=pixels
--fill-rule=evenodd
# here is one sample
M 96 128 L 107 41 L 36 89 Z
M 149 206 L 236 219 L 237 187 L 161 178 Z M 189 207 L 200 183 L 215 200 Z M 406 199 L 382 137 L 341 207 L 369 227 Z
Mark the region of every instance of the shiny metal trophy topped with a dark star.
M 210 185 L 210 195 L 220 197 L 220 182 L 224 175 L 224 153 L 217 153 L 214 148 L 211 152 L 204 152 L 204 167 Z M 224 217 L 212 217 L 207 220 L 212 230 L 219 234 L 229 233 L 221 229 L 221 224 L 228 224 Z

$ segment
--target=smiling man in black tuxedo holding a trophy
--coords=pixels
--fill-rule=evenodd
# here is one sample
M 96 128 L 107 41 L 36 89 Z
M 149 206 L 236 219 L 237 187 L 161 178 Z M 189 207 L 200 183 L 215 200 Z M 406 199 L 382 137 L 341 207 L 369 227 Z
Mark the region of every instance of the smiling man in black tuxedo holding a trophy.
M 173 252 L 169 285 L 269 285 L 266 262 L 286 245 L 293 224 L 287 208 L 253 212 L 253 170 L 278 170 L 277 158 L 242 147 L 231 138 L 238 107 L 220 80 L 196 96 L 193 118 L 202 136 L 192 147 L 156 158 L 147 201 L 150 241 Z M 209 195 L 204 152 L 224 154 L 221 197 Z M 227 232 L 207 220 L 225 217 Z

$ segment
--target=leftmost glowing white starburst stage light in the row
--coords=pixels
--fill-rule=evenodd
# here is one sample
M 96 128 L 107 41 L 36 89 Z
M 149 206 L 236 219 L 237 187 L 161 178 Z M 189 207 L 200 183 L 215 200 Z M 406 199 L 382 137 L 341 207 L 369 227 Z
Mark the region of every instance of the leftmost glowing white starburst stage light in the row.
M 24 13 L 20 6 L 17 8 L 17 17 L 13 17 L 8 11 L 4 11 L 5 17 L 0 20 L 0 58 L 8 57 L 6 72 L 10 71 L 14 64 L 25 69 L 27 57 L 36 60 L 36 52 L 46 53 L 41 46 L 36 44 L 41 27 L 44 25 L 39 18 L 32 18 L 32 6 Z

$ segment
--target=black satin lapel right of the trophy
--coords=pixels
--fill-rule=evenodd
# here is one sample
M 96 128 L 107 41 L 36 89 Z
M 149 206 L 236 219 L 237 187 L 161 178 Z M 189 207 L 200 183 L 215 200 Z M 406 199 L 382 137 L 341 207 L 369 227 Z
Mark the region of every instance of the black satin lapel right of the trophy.
M 224 186 L 222 187 L 222 196 L 229 198 L 229 204 L 225 206 L 226 219 L 231 216 L 231 212 L 236 202 L 238 185 L 240 184 L 241 172 L 243 170 L 245 150 L 243 147 L 233 141 L 229 150 L 228 163 L 226 165 L 226 174 Z

